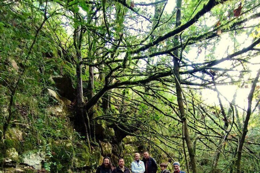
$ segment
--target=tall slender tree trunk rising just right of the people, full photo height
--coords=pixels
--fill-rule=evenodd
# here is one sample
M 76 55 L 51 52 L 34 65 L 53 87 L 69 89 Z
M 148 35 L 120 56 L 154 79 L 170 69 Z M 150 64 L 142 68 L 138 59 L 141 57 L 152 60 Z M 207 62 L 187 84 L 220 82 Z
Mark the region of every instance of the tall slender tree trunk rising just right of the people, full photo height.
M 177 4 L 176 28 L 178 28 L 178 26 L 180 26 L 180 24 L 181 24 L 182 0 L 176 0 L 176 4 Z M 174 36 L 174 46 L 178 45 L 178 43 L 179 43 L 179 36 L 175 35 Z M 197 161 L 196 161 L 195 154 L 194 154 L 194 151 L 193 151 L 192 142 L 191 142 L 190 137 L 189 137 L 188 122 L 186 120 L 184 105 L 183 105 L 183 101 L 182 101 L 182 88 L 181 88 L 181 85 L 180 85 L 180 75 L 179 75 L 179 68 L 180 68 L 179 67 L 179 63 L 180 63 L 179 60 L 180 59 L 178 58 L 178 50 L 175 50 L 173 61 L 174 61 L 174 78 L 175 78 L 175 85 L 176 85 L 177 101 L 178 101 L 181 119 L 182 119 L 182 122 L 184 123 L 185 141 L 186 141 L 186 145 L 187 145 L 188 152 L 189 152 L 192 170 L 193 170 L 193 173 L 197 173 Z M 187 167 L 187 170 L 189 170 L 188 167 Z

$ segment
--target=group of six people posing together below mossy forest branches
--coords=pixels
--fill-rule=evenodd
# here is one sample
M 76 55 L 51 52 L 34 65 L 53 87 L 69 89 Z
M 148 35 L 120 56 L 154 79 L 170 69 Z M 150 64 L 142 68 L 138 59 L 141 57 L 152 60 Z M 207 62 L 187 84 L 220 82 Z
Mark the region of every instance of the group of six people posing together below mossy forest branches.
M 180 169 L 180 163 L 174 162 L 174 173 L 185 173 Z M 167 169 L 166 163 L 160 164 L 161 173 L 170 173 Z M 143 159 L 140 160 L 140 154 L 134 154 L 134 161 L 131 163 L 132 173 L 156 173 L 157 172 L 157 164 L 154 158 L 149 156 L 147 151 L 143 152 Z M 118 159 L 118 166 L 114 168 L 112 166 L 111 160 L 109 157 L 104 157 L 102 165 L 97 167 L 96 173 L 131 173 L 131 171 L 124 166 L 124 159 Z

